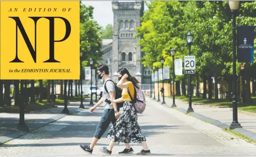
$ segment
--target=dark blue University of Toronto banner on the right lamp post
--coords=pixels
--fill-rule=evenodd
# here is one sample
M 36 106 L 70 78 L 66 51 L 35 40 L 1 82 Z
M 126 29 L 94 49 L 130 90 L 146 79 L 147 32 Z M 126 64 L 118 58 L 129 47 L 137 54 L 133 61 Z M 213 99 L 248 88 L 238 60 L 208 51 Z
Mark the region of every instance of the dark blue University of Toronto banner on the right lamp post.
M 238 26 L 238 62 L 254 62 L 254 26 Z

